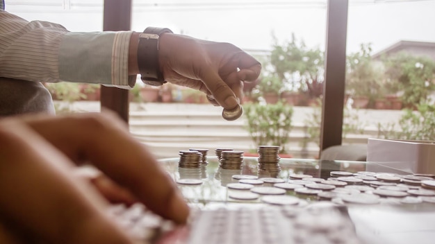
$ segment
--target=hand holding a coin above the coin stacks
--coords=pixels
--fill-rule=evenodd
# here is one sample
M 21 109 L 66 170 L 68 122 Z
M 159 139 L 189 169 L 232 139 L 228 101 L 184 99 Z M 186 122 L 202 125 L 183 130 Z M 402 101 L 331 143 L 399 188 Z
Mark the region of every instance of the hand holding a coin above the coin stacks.
M 261 64 L 237 46 L 165 33 L 159 62 L 167 82 L 198 89 L 217 104 L 233 109 L 243 98 L 243 81 L 254 81 Z

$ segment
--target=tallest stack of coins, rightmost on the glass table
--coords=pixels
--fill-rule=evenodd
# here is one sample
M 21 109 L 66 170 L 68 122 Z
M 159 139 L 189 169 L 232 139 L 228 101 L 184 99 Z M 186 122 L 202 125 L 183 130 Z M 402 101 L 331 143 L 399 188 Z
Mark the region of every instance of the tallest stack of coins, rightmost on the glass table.
M 279 146 L 258 146 L 258 174 L 277 177 L 281 172 L 279 166 Z

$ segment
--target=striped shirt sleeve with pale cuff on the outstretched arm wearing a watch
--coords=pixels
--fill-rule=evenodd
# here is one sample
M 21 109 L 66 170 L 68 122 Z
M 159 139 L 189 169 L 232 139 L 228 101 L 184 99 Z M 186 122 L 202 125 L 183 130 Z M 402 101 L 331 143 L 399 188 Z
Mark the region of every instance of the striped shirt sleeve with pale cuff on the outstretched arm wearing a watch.
M 1 77 L 134 86 L 136 76 L 128 75 L 130 31 L 73 33 L 3 10 L 0 23 Z

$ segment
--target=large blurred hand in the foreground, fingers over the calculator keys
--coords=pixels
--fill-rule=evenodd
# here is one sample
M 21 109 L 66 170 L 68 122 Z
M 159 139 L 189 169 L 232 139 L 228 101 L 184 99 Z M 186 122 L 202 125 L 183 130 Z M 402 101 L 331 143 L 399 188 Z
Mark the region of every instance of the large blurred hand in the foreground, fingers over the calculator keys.
M 98 184 L 119 186 L 126 200 L 177 223 L 188 217 L 174 182 L 113 114 L 2 119 L 0 145 L 0 243 L 28 236 L 48 243 L 132 243 L 104 213 L 106 200 L 73 173 L 80 162 L 96 166 L 109 180 Z

